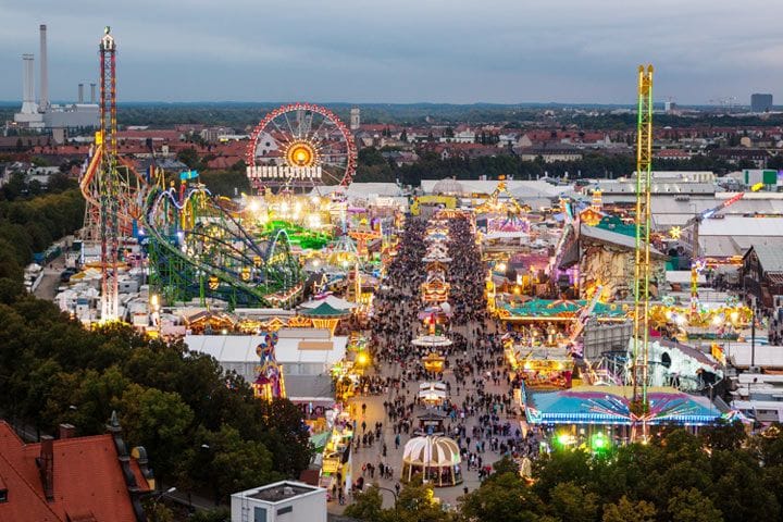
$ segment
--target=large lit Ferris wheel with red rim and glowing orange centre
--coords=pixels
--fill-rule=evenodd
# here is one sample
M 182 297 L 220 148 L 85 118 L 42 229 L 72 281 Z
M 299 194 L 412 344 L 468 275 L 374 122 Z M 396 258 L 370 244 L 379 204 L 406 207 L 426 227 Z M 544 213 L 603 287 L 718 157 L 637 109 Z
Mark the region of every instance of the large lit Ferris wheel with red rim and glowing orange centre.
M 348 127 L 328 109 L 290 103 L 266 114 L 250 135 L 245 157 L 256 188 L 347 186 L 357 149 Z

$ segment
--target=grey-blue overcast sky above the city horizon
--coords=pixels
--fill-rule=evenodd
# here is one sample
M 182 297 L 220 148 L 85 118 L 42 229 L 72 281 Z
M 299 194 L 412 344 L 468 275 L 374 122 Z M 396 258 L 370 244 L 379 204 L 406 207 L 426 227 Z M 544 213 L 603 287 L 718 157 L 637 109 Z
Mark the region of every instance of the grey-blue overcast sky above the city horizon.
M 779 0 L 0 0 L 0 100 L 46 23 L 55 100 L 95 82 L 111 25 L 121 102 L 633 103 L 651 62 L 658 101 L 781 103 L 781 20 Z

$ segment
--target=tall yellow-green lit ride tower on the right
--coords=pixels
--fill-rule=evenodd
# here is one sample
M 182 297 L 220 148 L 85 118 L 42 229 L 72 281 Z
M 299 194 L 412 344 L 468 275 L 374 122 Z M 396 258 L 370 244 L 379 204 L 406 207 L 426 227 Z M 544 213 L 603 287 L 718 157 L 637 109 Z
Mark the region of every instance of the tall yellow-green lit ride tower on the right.
M 636 130 L 636 244 L 634 259 L 633 400 L 644 418 L 647 401 L 650 282 L 650 182 L 652 177 L 652 65 L 638 67 Z M 644 422 L 643 422 L 644 423 Z M 646 438 L 646 425 L 643 425 Z

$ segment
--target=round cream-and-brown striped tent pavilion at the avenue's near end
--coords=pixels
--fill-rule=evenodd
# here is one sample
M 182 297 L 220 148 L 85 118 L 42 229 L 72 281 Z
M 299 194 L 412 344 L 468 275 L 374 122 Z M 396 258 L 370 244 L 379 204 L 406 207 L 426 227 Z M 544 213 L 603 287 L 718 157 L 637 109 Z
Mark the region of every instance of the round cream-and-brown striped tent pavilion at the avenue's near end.
M 436 487 L 462 483 L 462 459 L 459 446 L 449 437 L 413 437 L 402 452 L 401 482 L 410 482 L 417 473 Z

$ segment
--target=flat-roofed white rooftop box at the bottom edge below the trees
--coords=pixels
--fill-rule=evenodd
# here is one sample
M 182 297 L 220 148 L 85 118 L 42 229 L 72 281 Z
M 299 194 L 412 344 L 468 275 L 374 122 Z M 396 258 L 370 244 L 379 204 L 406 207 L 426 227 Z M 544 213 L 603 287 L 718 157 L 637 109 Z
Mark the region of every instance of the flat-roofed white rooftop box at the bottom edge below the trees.
M 326 522 L 326 489 L 283 481 L 235 493 L 232 522 Z

